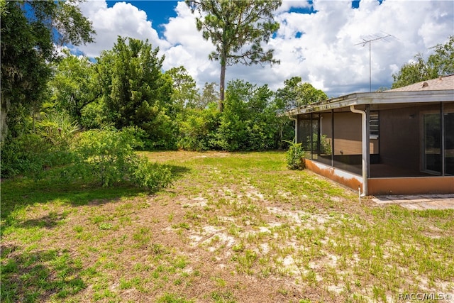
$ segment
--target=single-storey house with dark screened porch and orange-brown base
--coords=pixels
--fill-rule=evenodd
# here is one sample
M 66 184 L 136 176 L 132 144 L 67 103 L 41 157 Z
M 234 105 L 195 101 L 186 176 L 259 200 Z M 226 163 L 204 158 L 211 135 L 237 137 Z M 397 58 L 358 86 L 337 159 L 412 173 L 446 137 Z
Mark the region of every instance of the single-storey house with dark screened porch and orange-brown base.
M 287 114 L 309 170 L 364 195 L 454 193 L 454 75 Z

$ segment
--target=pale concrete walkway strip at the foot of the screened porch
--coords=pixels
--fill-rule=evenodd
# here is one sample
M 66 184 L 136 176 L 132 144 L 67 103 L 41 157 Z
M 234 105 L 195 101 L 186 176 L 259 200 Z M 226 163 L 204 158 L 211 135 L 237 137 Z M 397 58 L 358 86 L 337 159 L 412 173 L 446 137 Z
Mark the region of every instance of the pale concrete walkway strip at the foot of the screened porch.
M 454 209 L 454 194 L 416 194 L 411 196 L 378 196 L 377 204 L 399 204 L 406 209 Z

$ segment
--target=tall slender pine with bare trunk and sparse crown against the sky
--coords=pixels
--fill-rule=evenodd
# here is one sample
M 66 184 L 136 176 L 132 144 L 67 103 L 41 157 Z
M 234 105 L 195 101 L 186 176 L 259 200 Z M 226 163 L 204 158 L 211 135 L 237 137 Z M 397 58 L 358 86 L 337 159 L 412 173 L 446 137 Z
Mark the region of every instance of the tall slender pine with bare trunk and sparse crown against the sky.
M 219 82 L 219 109 L 223 111 L 226 66 L 279 63 L 274 50 L 264 50 L 262 41 L 268 42 L 279 29 L 272 13 L 281 6 L 281 0 L 186 0 L 192 12 L 199 11 L 197 30 L 205 40 L 211 40 L 216 51 L 210 60 L 221 63 Z

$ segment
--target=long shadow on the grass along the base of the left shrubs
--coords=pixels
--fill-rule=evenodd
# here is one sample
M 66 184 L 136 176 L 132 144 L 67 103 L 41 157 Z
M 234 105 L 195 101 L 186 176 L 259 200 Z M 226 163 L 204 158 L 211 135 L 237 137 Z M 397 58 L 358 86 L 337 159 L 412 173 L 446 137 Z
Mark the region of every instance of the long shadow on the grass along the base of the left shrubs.
M 172 172 L 172 182 L 175 182 L 190 171 L 187 167 L 166 166 Z M 67 214 L 50 213 L 38 219 L 21 220 L 21 217 L 25 216 L 27 206 L 30 205 L 48 203 L 63 203 L 71 206 L 101 205 L 153 193 L 136 187 L 130 182 L 121 182 L 111 187 L 101 187 L 95 183 L 62 182 L 55 178 L 39 181 L 33 181 L 26 177 L 3 180 L 1 182 L 2 228 L 0 235 L 4 234 L 7 226 L 18 223 L 21 224 L 21 227 L 52 228 L 67 216 Z

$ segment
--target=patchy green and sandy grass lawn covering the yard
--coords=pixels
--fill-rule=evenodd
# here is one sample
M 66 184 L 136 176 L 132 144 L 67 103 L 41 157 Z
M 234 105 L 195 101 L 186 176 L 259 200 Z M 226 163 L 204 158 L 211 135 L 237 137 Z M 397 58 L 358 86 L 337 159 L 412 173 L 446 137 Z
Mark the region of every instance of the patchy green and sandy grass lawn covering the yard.
M 284 153 L 143 153 L 172 187 L 1 182 L 1 302 L 454 294 L 454 211 L 359 204 Z

